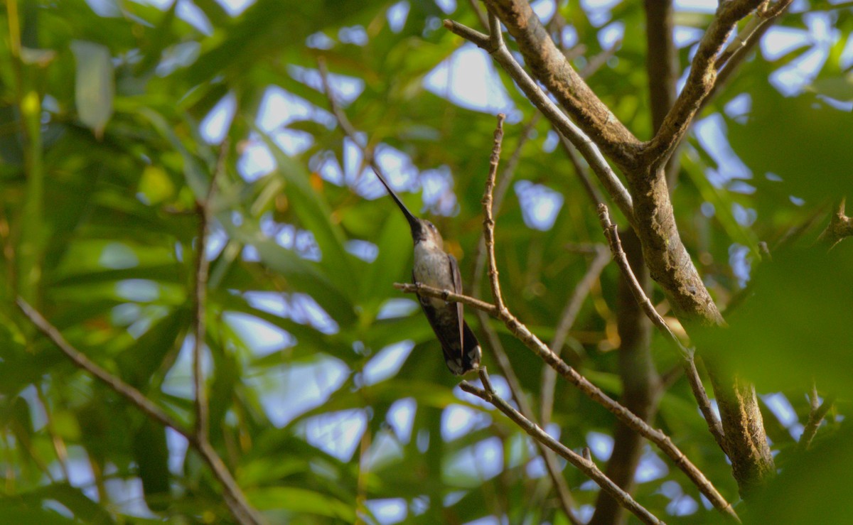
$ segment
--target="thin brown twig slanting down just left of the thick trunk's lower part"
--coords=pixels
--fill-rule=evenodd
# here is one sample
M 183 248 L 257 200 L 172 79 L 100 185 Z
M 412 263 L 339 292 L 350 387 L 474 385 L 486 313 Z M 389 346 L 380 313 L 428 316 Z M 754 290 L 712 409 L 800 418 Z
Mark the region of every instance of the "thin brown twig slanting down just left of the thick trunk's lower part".
M 676 334 L 672 333 L 670 326 L 666 324 L 666 321 L 658 313 L 658 310 L 654 309 L 654 305 L 647 297 L 646 292 L 643 291 L 634 271 L 631 270 L 628 257 L 625 256 L 625 252 L 622 249 L 622 241 L 619 240 L 616 225 L 611 222 L 610 213 L 607 211 L 606 205 L 598 205 L 598 217 L 601 221 L 601 228 L 604 230 L 604 235 L 610 245 L 613 260 L 616 261 L 619 269 L 622 270 L 622 274 L 628 282 L 631 292 L 634 294 L 634 298 L 640 305 L 640 308 L 647 315 L 648 319 L 652 321 L 652 324 L 664 334 L 664 337 L 672 344 L 678 354 L 681 355 L 684 373 L 688 378 L 690 389 L 693 391 L 693 397 L 696 398 L 696 402 L 699 405 L 699 411 L 702 412 L 702 416 L 708 424 L 708 430 L 711 431 L 711 435 L 714 436 L 717 445 L 725 452 L 726 447 L 723 440 L 722 424 L 719 418 L 717 418 L 717 413 L 711 408 L 711 401 L 708 399 L 708 394 L 702 385 L 702 379 L 699 378 L 699 372 L 696 370 L 696 364 L 693 361 L 693 349 L 685 347 L 678 337 L 676 337 Z

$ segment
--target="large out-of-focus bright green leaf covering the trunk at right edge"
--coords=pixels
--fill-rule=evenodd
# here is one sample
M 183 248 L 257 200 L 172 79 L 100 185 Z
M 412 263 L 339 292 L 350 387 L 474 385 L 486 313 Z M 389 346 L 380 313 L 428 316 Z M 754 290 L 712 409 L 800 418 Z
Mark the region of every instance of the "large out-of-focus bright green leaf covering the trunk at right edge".
M 853 393 L 853 245 L 782 251 L 754 274 L 750 298 L 727 329 L 702 333 L 710 355 L 763 391 L 821 389 Z M 772 363 L 772 366 L 768 366 Z

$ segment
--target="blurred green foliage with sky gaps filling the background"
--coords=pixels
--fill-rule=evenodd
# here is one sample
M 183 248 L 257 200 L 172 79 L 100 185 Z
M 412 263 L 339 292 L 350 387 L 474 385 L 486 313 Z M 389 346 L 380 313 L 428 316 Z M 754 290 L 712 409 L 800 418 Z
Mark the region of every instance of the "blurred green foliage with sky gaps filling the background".
M 206 195 L 220 161 L 208 253 L 212 441 L 252 504 L 272 522 L 389 522 L 394 509 L 406 522 L 501 515 L 566 522 L 531 442 L 454 389 L 427 321 L 392 289 L 410 275 L 407 227 L 388 199 L 376 199 L 380 186 L 359 169 L 357 148 L 335 128 L 319 89 L 322 56 L 349 118 L 388 163 L 403 199 L 436 222 L 470 283 L 494 113 L 509 113 L 508 158 L 533 111 L 505 77 L 514 106 L 490 111 L 427 89 L 427 75 L 462 45 L 441 18 L 452 11 L 479 27 L 470 5 L 456 4 L 257 0 L 232 14 L 214 0 L 165 9 L 113 0 L 5 3 L 3 522 L 230 519 L 220 487 L 185 441 L 78 372 L 14 305 L 26 298 L 92 360 L 191 424 L 195 199 Z M 589 84 L 647 138 L 640 4 L 589 4 L 560 3 L 586 48 L 576 66 L 607 47 L 606 32 L 624 31 Z M 804 42 L 773 60 L 758 53 L 707 107 L 703 122 L 717 122 L 721 139 L 691 136 L 673 199 L 711 292 L 722 308 L 733 297 L 737 304 L 727 313 L 731 329 L 703 339 L 699 351 L 730 356 L 762 394 L 783 394 L 793 414 L 766 414 L 780 476 L 746 518 L 840 523 L 853 515 L 845 497 L 853 486 L 850 428 L 839 423 L 850 407 L 853 260 L 845 243 L 827 256 L 811 242 L 829 204 L 853 187 L 844 52 L 853 16 L 827 2 L 797 5 L 810 12 L 779 24 Z M 676 20 L 688 34 L 711 14 L 680 11 Z M 682 67 L 694 43 L 680 49 Z M 780 72 L 815 52 L 825 58 L 813 82 L 781 95 Z M 222 134 L 210 133 L 214 116 Z M 539 193 L 511 187 L 497 222 L 504 297 L 545 340 L 589 263 L 566 245 L 601 242 L 593 206 L 553 148 L 539 121 L 515 170 Z M 735 153 L 746 171 L 729 172 Z M 432 187 L 429 195 L 407 191 L 419 182 Z M 552 228 L 531 226 L 537 200 L 522 201 L 537 194 L 562 199 Z M 788 241 L 774 262 L 760 261 L 757 240 L 773 248 L 779 239 Z M 621 389 L 617 277 L 617 268 L 606 268 L 563 349 L 611 395 Z M 496 328 L 537 401 L 542 363 Z M 660 372 L 676 366 L 658 338 L 654 347 Z M 802 453 L 792 436 L 808 418 L 812 380 L 838 401 L 814 452 Z M 611 414 L 566 384 L 557 388 L 561 441 L 576 449 L 589 436 L 606 441 Z M 737 499 L 683 379 L 664 393 L 654 425 Z M 716 518 L 679 470 L 653 449 L 645 454 L 643 464 L 658 466 L 647 466 L 636 488 L 642 505 L 667 522 Z M 596 487 L 571 468 L 564 474 L 588 513 Z

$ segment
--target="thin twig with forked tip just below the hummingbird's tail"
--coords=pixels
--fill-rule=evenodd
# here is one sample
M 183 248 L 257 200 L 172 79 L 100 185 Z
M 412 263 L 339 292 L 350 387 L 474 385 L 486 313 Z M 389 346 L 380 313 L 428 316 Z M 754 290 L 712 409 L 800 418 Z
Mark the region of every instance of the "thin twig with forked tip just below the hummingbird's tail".
M 560 441 L 556 441 L 553 437 L 548 436 L 547 432 L 539 428 L 539 426 L 534 424 L 530 419 L 525 418 L 521 413 L 511 407 L 507 401 L 504 401 L 499 395 L 497 395 L 495 389 L 491 386 L 485 366 L 480 366 L 479 375 L 485 389 L 479 389 L 473 384 L 467 383 L 467 381 L 462 381 L 460 384 L 461 389 L 465 390 L 469 394 L 476 395 L 484 401 L 490 402 L 508 418 L 512 419 L 515 424 L 519 425 L 522 430 L 525 430 L 525 432 L 533 439 L 543 443 L 543 445 L 550 448 L 555 453 L 560 454 L 560 457 L 574 465 L 577 470 L 580 470 L 583 474 L 589 476 L 589 478 L 601 487 L 602 490 L 606 490 L 607 493 L 610 493 L 612 497 L 619 502 L 619 505 L 624 506 L 625 509 L 632 512 L 641 520 L 641 522 L 663 523 L 651 512 L 647 511 L 645 507 L 637 503 L 635 499 L 631 498 L 629 493 L 626 493 L 624 490 L 619 488 L 616 483 L 612 482 L 610 478 L 605 476 L 604 473 L 599 470 L 595 462 L 591 459 L 584 458 L 582 455 L 572 451 L 570 448 L 560 443 Z

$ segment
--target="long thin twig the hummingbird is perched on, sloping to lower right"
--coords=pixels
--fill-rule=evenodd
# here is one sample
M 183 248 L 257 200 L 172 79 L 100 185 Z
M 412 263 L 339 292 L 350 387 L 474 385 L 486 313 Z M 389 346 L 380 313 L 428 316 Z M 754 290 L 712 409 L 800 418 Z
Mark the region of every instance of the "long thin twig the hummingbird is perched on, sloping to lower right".
M 694 465 L 690 459 L 688 459 L 688 457 L 685 456 L 678 447 L 676 447 L 672 440 L 670 440 L 669 436 L 666 436 L 661 430 L 653 429 L 641 418 L 636 417 L 634 413 L 619 404 L 618 401 L 614 401 L 610 396 L 606 395 L 600 388 L 595 386 L 595 384 L 592 384 L 589 379 L 585 378 L 580 372 L 577 372 L 577 370 L 572 368 L 572 366 L 566 364 L 566 361 L 561 360 L 558 355 L 554 355 L 554 352 L 548 348 L 548 345 L 536 337 L 536 335 L 534 335 L 527 326 L 516 319 L 508 309 L 504 308 L 499 310 L 494 304 L 485 303 L 485 301 L 454 293 L 450 290 L 433 288 L 432 286 L 410 283 L 394 283 L 394 287 L 405 293 L 416 293 L 421 296 L 441 298 L 446 302 L 462 303 L 466 306 L 483 310 L 492 317 L 501 320 L 503 324 L 507 326 L 509 332 L 517 337 L 521 343 L 524 343 L 527 348 L 533 350 L 533 352 L 539 355 L 539 357 L 548 363 L 549 366 L 554 367 L 560 376 L 566 378 L 566 381 L 575 385 L 583 395 L 586 395 L 592 401 L 595 401 L 602 407 L 605 407 L 614 416 L 619 418 L 619 420 L 628 428 L 647 438 L 648 441 L 652 441 L 655 446 L 659 447 L 661 452 L 672 459 L 673 463 L 675 463 L 676 466 L 678 466 L 678 468 L 688 476 L 690 481 L 699 488 L 699 492 L 703 493 L 705 498 L 711 501 L 711 504 L 714 505 L 717 510 L 737 519 L 737 515 L 734 513 L 732 505 L 730 505 L 726 499 L 717 492 L 717 489 L 705 477 L 705 474 L 696 468 L 696 465 Z

